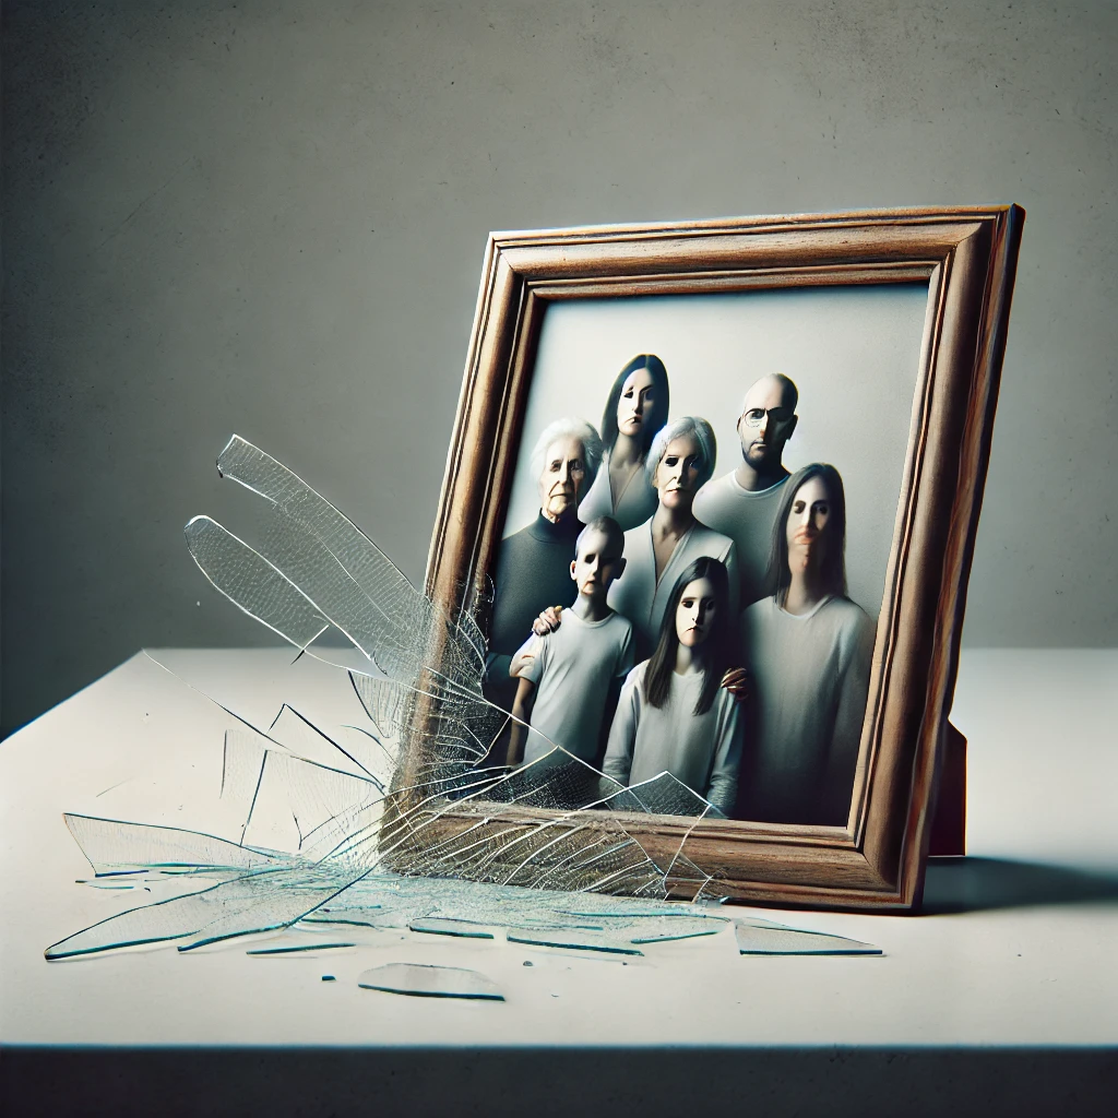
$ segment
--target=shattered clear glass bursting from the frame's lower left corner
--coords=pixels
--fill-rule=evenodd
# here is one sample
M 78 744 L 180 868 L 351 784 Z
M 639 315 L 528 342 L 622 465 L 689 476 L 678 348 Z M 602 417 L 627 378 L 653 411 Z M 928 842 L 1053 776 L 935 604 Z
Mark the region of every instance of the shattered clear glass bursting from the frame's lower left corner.
M 196 517 L 191 556 L 300 656 L 348 672 L 363 721 L 343 738 L 286 704 L 266 730 L 238 719 L 220 774 L 221 800 L 243 819 L 237 841 L 67 815 L 98 879 L 173 874 L 188 891 L 82 929 L 47 948 L 48 959 L 171 940 L 189 951 L 323 925 L 503 931 L 512 942 L 634 955 L 733 926 L 742 951 L 778 949 L 779 926 L 735 923 L 700 903 L 718 896 L 717 882 L 685 847 L 694 824 L 718 814 L 709 802 L 667 774 L 623 787 L 531 727 L 539 760 L 490 764 L 512 716 L 482 694 L 486 648 L 474 617 L 449 617 L 333 505 L 239 437 L 218 470 L 269 504 L 271 524 L 253 547 Z M 359 669 L 318 643 L 331 629 Z M 654 856 L 627 825 L 664 815 L 689 816 L 689 827 Z M 195 877 L 200 888 L 190 889 Z M 690 903 L 669 902 L 681 892 Z M 394 980 L 421 986 L 423 969 Z

